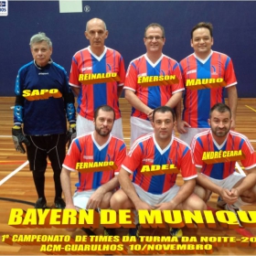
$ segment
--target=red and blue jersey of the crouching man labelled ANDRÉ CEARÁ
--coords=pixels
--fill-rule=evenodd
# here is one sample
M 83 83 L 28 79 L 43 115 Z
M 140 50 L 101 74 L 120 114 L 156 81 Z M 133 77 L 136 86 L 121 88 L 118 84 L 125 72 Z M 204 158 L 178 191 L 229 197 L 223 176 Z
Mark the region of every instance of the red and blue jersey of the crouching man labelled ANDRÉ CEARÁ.
M 239 151 L 245 155 L 245 159 L 240 160 L 245 169 L 256 166 L 256 155 L 248 138 L 240 133 L 229 131 L 227 139 L 221 145 L 213 139 L 210 130 L 198 133 L 192 143 L 191 149 L 194 155 L 195 164 L 201 168 L 201 172 L 215 179 L 224 179 L 235 172 L 236 161 L 206 164 L 202 158 L 205 152 L 219 151 Z

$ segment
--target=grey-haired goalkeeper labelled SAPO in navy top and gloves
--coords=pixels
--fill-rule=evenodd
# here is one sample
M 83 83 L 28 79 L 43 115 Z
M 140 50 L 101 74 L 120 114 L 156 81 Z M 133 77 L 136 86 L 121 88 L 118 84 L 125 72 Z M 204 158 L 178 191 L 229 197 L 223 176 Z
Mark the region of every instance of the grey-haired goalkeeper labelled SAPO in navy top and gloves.
M 21 153 L 26 152 L 23 144 L 27 145 L 27 159 L 38 195 L 35 208 L 47 206 L 44 191 L 47 157 L 54 172 L 55 206 L 65 208 L 60 172 L 70 135 L 65 115 L 71 128 L 76 122 L 74 97 L 66 70 L 50 58 L 52 42 L 46 34 L 40 32 L 31 37 L 29 45 L 34 60 L 19 69 L 16 77 L 13 140 Z

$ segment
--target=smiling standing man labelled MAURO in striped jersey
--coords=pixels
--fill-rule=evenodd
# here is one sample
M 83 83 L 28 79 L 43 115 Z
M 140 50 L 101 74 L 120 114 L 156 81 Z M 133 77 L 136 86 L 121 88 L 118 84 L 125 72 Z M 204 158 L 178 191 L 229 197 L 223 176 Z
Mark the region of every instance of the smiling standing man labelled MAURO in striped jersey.
M 208 112 L 218 103 L 224 102 L 224 88 L 218 85 L 223 80 L 228 92 L 229 108 L 235 128 L 237 110 L 237 80 L 229 56 L 211 50 L 213 45 L 212 25 L 200 22 L 191 31 L 191 47 L 194 53 L 181 60 L 180 66 L 185 83 L 184 110 L 181 118 L 181 103 L 176 108 L 177 131 L 180 138 L 190 144 L 194 135 L 208 129 Z M 212 79 L 212 80 L 209 80 Z M 192 90 L 192 84 L 208 83 L 211 89 Z M 190 85 L 190 86 L 189 86 Z

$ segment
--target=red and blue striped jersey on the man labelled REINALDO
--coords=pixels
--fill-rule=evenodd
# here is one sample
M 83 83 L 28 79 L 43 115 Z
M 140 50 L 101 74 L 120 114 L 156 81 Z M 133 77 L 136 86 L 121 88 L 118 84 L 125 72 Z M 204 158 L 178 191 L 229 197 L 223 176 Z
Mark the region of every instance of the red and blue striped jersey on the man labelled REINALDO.
M 82 84 L 80 74 L 117 73 L 120 81 L 103 82 L 95 84 Z M 121 118 L 118 100 L 118 86 L 123 86 L 125 80 L 124 61 L 121 54 L 112 49 L 105 48 L 100 57 L 91 52 L 90 47 L 81 49 L 72 58 L 69 75 L 69 85 L 80 88 L 77 112 L 93 120 L 93 112 L 102 104 L 114 109 L 115 118 Z

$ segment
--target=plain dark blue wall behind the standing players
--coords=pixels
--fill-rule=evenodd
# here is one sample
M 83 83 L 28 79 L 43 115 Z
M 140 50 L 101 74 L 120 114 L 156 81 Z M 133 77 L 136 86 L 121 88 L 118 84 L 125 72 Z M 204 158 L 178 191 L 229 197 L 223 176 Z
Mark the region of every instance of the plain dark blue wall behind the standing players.
M 164 53 L 177 61 L 193 52 L 190 30 L 200 21 L 213 24 L 213 49 L 231 57 L 240 98 L 256 97 L 256 2 L 83 1 L 82 13 L 59 13 L 59 1 L 9 1 L 8 16 L 0 17 L 0 96 L 14 96 L 17 70 L 30 60 L 29 39 L 43 31 L 53 42 L 52 59 L 69 73 L 73 54 L 88 46 L 83 33 L 92 17 L 108 27 L 106 45 L 129 62 L 144 54 L 144 27 L 165 27 Z M 86 13 L 84 6 L 90 5 Z

